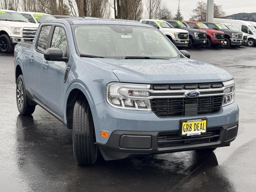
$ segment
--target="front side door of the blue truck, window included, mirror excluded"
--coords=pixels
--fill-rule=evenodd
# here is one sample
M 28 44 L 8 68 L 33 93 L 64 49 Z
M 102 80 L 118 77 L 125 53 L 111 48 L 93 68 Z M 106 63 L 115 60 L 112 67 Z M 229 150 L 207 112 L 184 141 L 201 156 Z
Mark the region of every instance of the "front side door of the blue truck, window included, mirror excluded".
M 58 24 L 52 27 L 49 48 L 59 48 L 63 57 L 69 57 L 66 27 Z M 45 60 L 44 60 L 45 61 Z M 42 68 L 42 97 L 44 105 L 63 118 L 64 76 L 68 62 L 45 61 Z

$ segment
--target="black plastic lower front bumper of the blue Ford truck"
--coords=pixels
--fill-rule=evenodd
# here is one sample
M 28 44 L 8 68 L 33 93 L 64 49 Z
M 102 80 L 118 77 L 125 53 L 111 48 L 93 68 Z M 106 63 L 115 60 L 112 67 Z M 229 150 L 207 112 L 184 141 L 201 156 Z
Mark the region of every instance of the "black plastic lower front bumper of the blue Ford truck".
M 114 131 L 106 144 L 98 144 L 106 160 L 128 156 L 163 154 L 229 146 L 237 135 L 238 122 L 225 126 L 208 127 L 206 135 L 178 136 L 178 131 L 141 132 Z

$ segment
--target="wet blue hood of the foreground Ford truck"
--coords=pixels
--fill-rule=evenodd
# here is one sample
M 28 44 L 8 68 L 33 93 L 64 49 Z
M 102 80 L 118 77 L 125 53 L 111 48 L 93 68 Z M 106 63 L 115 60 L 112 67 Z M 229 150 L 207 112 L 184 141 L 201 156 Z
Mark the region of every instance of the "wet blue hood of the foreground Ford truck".
M 82 60 L 88 61 L 88 58 Z M 222 82 L 233 77 L 216 66 L 187 58 L 170 60 L 90 58 L 90 63 L 111 70 L 120 82 L 200 83 Z

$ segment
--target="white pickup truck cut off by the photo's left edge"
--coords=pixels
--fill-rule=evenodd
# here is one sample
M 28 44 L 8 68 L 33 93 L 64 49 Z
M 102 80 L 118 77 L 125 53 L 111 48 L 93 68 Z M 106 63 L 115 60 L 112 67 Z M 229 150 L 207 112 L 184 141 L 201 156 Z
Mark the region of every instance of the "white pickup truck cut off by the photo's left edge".
M 0 52 L 13 52 L 18 42 L 33 42 L 37 28 L 18 12 L 0 9 Z

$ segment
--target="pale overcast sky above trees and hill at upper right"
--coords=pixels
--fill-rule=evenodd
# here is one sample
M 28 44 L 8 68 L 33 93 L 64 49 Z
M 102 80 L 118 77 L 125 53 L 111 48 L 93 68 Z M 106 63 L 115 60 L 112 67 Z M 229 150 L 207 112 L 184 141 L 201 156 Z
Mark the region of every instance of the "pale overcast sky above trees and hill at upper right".
M 178 0 L 163 0 L 166 2 L 168 8 L 172 10 L 173 13 L 177 11 L 178 8 Z M 199 0 L 180 0 L 180 11 L 184 16 L 184 20 L 188 20 L 190 18 L 190 14 L 192 14 L 192 10 L 196 7 L 196 3 Z M 207 0 L 203 0 L 207 2 Z M 226 15 L 231 15 L 235 13 L 252 13 L 256 12 L 256 0 L 214 0 L 216 4 L 222 4 L 223 10 Z

